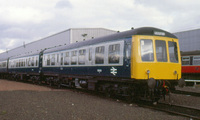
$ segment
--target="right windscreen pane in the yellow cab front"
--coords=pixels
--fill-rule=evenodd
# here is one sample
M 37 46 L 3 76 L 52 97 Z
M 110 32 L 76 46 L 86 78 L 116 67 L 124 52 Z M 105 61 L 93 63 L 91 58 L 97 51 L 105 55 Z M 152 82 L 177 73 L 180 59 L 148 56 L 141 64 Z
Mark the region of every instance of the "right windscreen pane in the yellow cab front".
M 176 42 L 168 42 L 170 62 L 178 63 L 178 52 Z

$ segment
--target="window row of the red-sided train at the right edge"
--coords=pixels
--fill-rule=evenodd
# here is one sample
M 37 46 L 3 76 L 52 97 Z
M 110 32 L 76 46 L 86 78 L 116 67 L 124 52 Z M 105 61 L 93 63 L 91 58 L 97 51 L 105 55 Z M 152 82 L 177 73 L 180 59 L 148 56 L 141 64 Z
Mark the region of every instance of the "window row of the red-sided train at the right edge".
M 200 65 L 200 56 L 183 56 L 182 65 Z

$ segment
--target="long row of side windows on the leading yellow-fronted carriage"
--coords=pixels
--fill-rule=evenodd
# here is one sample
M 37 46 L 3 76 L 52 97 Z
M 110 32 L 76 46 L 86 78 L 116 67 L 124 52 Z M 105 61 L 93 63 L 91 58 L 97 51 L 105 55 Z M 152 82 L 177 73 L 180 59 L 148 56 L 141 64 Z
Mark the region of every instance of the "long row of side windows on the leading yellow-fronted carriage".
M 122 64 L 123 42 L 45 54 L 44 66 Z M 108 56 L 108 57 L 106 57 Z M 107 61 L 106 61 L 107 60 Z

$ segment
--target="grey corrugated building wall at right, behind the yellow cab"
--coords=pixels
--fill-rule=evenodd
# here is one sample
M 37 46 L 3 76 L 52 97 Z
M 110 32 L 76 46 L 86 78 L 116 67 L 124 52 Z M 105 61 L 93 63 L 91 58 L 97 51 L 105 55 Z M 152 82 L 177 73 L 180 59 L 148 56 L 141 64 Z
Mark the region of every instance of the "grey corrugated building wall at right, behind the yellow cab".
M 181 51 L 200 50 L 200 29 L 174 33 L 179 39 Z

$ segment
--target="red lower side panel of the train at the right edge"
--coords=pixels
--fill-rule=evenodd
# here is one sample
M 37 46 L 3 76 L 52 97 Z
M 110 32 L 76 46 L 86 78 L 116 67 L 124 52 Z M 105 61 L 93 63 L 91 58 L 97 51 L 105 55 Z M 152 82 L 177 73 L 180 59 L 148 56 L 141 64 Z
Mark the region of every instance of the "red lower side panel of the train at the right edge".
M 200 73 L 200 66 L 182 66 L 182 73 Z

